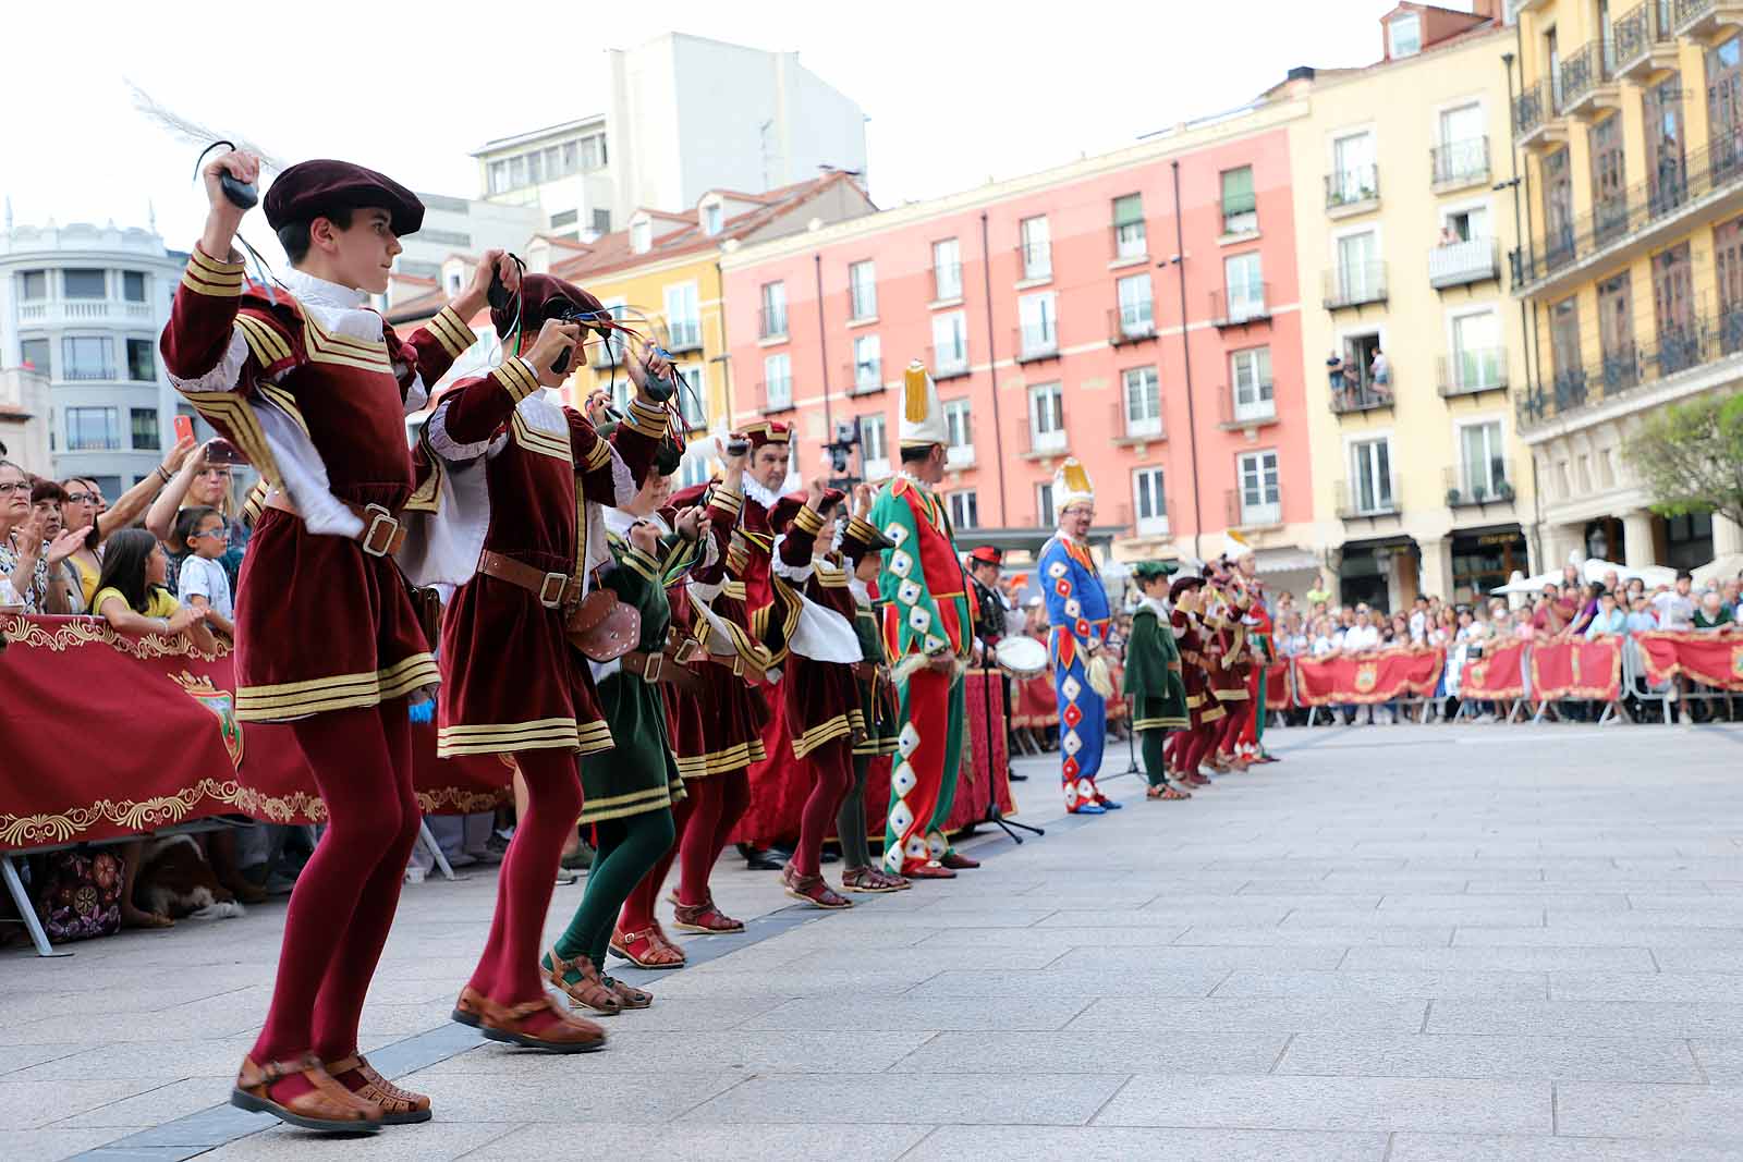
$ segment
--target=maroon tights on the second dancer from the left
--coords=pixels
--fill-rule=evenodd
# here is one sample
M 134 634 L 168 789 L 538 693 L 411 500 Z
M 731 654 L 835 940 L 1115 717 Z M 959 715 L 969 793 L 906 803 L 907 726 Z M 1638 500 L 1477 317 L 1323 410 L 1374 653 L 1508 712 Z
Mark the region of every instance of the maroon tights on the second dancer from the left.
M 472 988 L 500 1005 L 539 1000 L 539 953 L 563 843 L 580 815 L 580 775 L 572 751 L 519 751 L 526 815 L 497 875 L 497 913 L 472 970 Z

